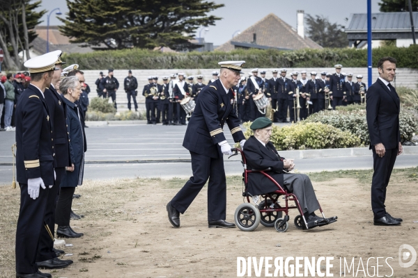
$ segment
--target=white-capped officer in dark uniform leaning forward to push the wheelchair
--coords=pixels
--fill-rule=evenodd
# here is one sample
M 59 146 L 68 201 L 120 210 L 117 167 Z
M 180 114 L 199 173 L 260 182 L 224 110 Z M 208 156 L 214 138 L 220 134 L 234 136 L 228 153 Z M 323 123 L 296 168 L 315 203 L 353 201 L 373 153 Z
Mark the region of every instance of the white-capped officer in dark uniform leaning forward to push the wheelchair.
M 200 190 L 208 184 L 209 228 L 233 228 L 226 222 L 226 177 L 223 154 L 230 155 L 231 145 L 224 136 L 224 124 L 228 124 L 234 142 L 244 146 L 245 137 L 235 111 L 233 86 L 240 81 L 244 61 L 220 62 L 220 77 L 202 89 L 190 122 L 183 147 L 192 156 L 193 177 L 167 204 L 169 221 L 180 227 L 180 213 L 185 213 Z

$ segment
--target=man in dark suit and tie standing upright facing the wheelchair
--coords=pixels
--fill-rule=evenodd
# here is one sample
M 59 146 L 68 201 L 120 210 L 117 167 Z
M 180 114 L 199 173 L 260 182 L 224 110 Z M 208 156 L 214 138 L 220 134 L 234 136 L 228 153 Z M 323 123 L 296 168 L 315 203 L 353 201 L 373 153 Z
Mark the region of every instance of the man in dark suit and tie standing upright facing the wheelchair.
M 373 179 L 371 208 L 375 225 L 398 225 L 401 218 L 393 218 L 385 209 L 386 188 L 396 156 L 402 154 L 399 132 L 399 97 L 391 82 L 396 71 L 396 59 L 383 57 L 378 61 L 379 78 L 370 86 L 366 96 L 366 119 L 373 151 Z

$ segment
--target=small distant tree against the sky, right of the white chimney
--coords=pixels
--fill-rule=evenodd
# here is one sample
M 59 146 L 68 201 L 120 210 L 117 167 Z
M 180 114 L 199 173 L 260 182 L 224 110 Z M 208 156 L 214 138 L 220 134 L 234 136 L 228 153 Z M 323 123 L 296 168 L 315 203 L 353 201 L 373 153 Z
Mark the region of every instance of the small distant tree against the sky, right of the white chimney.
M 307 15 L 307 35 L 321 47 L 348 47 L 344 26 L 332 24 L 326 17 Z

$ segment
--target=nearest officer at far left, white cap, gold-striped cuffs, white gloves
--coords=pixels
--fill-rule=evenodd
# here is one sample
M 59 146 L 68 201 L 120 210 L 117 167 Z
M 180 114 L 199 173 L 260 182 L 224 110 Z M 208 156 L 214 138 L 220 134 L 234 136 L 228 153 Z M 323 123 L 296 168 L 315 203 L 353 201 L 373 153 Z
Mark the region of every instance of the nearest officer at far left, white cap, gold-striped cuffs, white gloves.
M 20 211 L 16 229 L 16 277 L 52 277 L 35 263 L 44 227 L 49 188 L 54 185 L 54 130 L 45 88 L 49 88 L 58 57 L 54 53 L 27 60 L 31 83 L 16 108 L 16 172 Z

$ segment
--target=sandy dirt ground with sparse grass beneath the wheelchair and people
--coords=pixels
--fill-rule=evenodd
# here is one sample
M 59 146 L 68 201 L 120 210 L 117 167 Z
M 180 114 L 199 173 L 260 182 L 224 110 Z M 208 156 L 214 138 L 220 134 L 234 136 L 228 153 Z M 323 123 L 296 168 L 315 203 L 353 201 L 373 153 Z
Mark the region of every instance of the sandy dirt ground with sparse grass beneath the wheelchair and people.
M 340 277 L 340 257 L 350 263 L 354 258 L 356 270 L 360 258 L 366 270 L 369 257 L 392 257 L 388 263 L 393 274 L 385 259 L 380 259 L 379 265 L 384 266 L 380 266 L 379 275 L 417 277 L 418 261 L 410 268 L 401 268 L 398 264 L 401 244 L 412 245 L 418 251 L 418 223 L 413 222 L 418 220 L 417 181 L 411 179 L 412 176 L 398 174 L 398 177 L 388 188 L 386 203 L 392 215 L 403 218 L 401 227 L 373 226 L 369 186 L 361 179 L 343 178 L 314 182 L 325 215 L 338 215 L 338 222 L 301 231 L 293 225 L 293 218 L 298 214 L 293 210 L 291 225 L 285 233 L 261 224 L 252 232 L 238 228 L 208 229 L 206 188 L 180 216 L 180 229 L 174 229 L 167 220 L 165 206 L 183 186 L 181 179 L 89 181 L 77 189 L 82 197 L 73 203 L 76 213 L 86 215 L 82 220 L 72 221 L 73 229 L 84 232 L 84 236 L 67 239 L 67 243 L 74 246 L 63 248 L 73 254 L 64 258 L 75 262 L 52 274 L 53 277 L 94 278 L 236 277 L 238 256 L 271 256 L 273 259 L 333 256 L 331 273 L 334 277 Z M 7 190 L 8 196 L 17 200 L 18 191 Z M 226 220 L 230 222 L 233 222 L 235 208 L 242 203 L 241 192 L 240 179 L 229 178 Z M 4 195 L 4 190 L 1 193 Z M 4 256 L 7 254 L 3 252 Z M 324 269 L 325 263 L 321 265 Z M 369 261 L 370 275 L 373 275 L 373 267 L 376 268 L 376 259 Z M 0 263 L 1 271 L 3 277 L 14 275 L 13 269 L 5 270 Z M 261 277 L 264 275 L 263 269 Z M 346 271 L 346 277 L 353 276 L 353 270 Z M 255 277 L 254 269 L 252 277 Z M 358 272 L 357 277 L 366 276 Z

